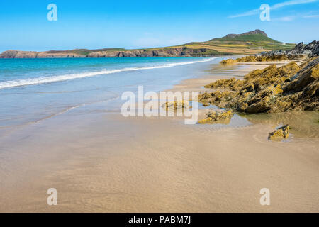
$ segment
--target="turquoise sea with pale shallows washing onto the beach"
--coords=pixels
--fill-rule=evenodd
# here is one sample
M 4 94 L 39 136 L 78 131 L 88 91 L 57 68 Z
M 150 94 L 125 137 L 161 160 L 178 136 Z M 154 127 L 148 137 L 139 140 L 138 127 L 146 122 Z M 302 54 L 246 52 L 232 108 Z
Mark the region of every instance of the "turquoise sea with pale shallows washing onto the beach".
M 103 102 L 107 111 L 125 91 L 169 89 L 218 63 L 214 57 L 128 57 L 0 60 L 0 129 L 41 121 Z M 111 107 L 112 106 L 112 107 Z M 115 109 L 114 109 L 115 108 Z

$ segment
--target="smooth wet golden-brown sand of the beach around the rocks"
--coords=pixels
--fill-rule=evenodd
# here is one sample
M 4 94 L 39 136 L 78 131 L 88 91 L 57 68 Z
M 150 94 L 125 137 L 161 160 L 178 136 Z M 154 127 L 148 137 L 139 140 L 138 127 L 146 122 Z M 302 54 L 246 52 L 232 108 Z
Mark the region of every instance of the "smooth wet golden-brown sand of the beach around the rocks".
M 266 66 L 215 69 L 219 76 L 174 90 L 203 91 L 213 79 Z M 303 114 L 290 119 L 309 123 Z M 286 118 L 234 121 L 186 126 L 181 118 L 124 118 L 83 106 L 21 128 L 0 139 L 0 211 L 318 212 L 316 131 L 278 143 L 267 137 Z M 57 206 L 47 206 L 52 187 Z M 262 188 L 270 190 L 270 206 L 259 204 Z

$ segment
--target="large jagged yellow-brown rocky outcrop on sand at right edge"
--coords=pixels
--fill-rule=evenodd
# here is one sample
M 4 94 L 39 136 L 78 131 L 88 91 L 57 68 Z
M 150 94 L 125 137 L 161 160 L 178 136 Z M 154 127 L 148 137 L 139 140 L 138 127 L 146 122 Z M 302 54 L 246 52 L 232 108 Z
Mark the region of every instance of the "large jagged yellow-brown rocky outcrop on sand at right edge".
M 319 57 L 298 66 L 271 65 L 244 79 L 223 79 L 206 85 L 214 89 L 198 96 L 203 104 L 247 114 L 319 110 Z

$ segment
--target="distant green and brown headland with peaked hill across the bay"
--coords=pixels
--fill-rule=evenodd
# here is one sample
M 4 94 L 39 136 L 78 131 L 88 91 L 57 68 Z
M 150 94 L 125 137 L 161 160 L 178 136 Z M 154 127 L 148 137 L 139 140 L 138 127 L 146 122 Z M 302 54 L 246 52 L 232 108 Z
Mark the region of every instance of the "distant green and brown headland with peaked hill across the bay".
M 99 50 L 50 50 L 31 52 L 7 50 L 0 58 L 35 57 L 200 57 L 217 55 L 252 55 L 263 51 L 291 50 L 295 44 L 281 43 L 269 38 L 261 30 L 242 34 L 228 34 L 222 38 L 213 38 L 206 42 L 193 42 L 166 48 L 146 48 L 126 50 L 123 48 L 105 48 Z

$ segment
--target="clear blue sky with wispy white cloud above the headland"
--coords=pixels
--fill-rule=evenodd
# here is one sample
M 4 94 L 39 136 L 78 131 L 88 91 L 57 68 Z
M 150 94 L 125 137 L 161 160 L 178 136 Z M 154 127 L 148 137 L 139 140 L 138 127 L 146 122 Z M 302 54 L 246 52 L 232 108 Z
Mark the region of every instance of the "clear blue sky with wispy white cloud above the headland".
M 48 4 L 57 21 L 47 20 Z M 259 19 L 269 4 L 271 21 Z M 150 48 L 256 28 L 286 43 L 319 38 L 319 0 L 1 0 L 0 52 Z

